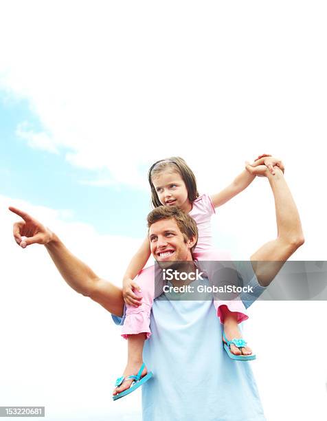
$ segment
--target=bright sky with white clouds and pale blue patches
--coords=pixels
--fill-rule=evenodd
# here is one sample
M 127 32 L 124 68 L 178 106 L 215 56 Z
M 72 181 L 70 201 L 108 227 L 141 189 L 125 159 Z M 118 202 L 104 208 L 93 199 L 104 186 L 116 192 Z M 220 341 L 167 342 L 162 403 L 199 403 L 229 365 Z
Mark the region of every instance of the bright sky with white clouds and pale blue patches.
M 302 219 L 306 242 L 292 258 L 326 260 L 327 7 L 11 1 L 1 9 L 0 406 L 45 404 L 48 420 L 137 419 L 140 393 L 128 406 L 111 402 L 126 344 L 110 315 L 70 290 L 41 246 L 16 246 L 7 208 L 40 219 L 120 285 L 146 235 L 155 160 L 182 156 L 199 190 L 217 193 L 245 160 L 271 153 L 285 164 Z M 218 208 L 212 224 L 216 246 L 235 259 L 275 238 L 267 180 Z M 322 337 L 323 311 L 321 302 L 253 305 L 246 328 L 268 420 L 313 411 L 326 419 L 327 365 L 307 350 L 308 338 Z M 293 338 L 295 354 L 285 345 Z

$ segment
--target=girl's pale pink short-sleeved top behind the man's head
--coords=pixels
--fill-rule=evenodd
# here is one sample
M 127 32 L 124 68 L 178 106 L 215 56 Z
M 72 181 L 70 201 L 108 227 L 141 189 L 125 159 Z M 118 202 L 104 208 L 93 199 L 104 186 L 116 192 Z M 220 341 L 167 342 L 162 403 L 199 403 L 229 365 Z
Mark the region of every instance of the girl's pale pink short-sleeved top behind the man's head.
M 210 219 L 216 213 L 212 199 L 208 195 L 199 195 L 192 203 L 190 215 L 199 230 L 198 244 L 194 252 L 201 252 L 212 248 L 212 232 Z

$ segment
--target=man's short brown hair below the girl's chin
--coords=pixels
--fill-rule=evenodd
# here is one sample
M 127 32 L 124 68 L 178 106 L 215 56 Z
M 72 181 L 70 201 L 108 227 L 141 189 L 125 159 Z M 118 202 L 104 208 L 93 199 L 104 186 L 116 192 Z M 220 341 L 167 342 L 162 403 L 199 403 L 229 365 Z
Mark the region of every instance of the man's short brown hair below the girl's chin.
M 148 228 L 155 224 L 155 222 L 161 221 L 161 219 L 174 219 L 179 230 L 183 234 L 185 243 L 192 237 L 196 238 L 196 242 L 191 248 L 191 252 L 193 252 L 198 242 L 199 234 L 196 222 L 188 213 L 183 212 L 183 210 L 177 208 L 177 206 L 158 206 L 151 210 L 146 219 L 148 221 Z

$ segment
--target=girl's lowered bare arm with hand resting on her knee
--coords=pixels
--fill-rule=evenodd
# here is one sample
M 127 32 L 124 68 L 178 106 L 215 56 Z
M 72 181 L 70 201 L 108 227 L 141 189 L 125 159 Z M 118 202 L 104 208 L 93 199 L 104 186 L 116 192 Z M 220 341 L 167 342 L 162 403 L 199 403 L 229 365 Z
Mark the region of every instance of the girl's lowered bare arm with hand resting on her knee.
M 123 278 L 123 297 L 124 301 L 128 305 L 141 305 L 142 296 L 136 295 L 133 289 L 140 291 L 139 285 L 133 279 L 139 272 L 146 266 L 151 255 L 150 243 L 148 237 L 143 241 L 141 247 L 135 255 L 132 257 Z

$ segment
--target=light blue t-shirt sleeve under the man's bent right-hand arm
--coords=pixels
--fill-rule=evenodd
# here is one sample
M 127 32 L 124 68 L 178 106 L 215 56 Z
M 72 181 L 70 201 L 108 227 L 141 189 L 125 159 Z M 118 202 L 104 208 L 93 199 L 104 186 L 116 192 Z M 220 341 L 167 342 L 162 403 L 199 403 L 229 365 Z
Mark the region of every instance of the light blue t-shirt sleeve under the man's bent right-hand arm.
M 251 261 L 234 261 L 234 265 L 238 271 L 238 278 L 243 283 L 243 287 L 249 287 L 249 292 L 242 292 L 240 294 L 240 299 L 247 308 L 258 299 L 267 287 L 263 287 L 258 283 Z

